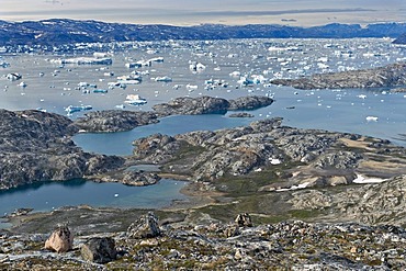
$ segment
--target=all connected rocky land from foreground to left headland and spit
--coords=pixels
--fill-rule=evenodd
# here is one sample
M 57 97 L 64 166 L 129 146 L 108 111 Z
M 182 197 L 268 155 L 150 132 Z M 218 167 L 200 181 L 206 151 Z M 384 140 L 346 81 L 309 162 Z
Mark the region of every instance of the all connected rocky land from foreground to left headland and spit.
M 187 201 L 154 213 L 86 205 L 15 212 L 8 217 L 14 226 L 0 230 L 0 269 L 404 270 L 406 149 L 388 140 L 289 127 L 278 117 L 150 135 L 134 140 L 128 157 L 88 154 L 70 139 L 80 129 L 127 131 L 171 114 L 271 103 L 179 98 L 151 112 L 92 112 L 75 122 L 0 111 L 3 189 L 82 177 L 131 185 L 189 181 Z M 138 163 L 161 171 L 125 170 Z

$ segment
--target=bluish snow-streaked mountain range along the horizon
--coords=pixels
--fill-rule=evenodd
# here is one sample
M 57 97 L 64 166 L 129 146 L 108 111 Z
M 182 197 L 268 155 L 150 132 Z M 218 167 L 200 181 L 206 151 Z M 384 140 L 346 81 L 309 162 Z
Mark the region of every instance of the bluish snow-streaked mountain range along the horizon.
M 110 43 L 166 39 L 227 39 L 278 37 L 398 37 L 406 23 L 328 24 L 296 27 L 275 24 L 195 26 L 140 25 L 53 19 L 44 21 L 0 21 L 0 46 L 60 46 L 74 43 Z

